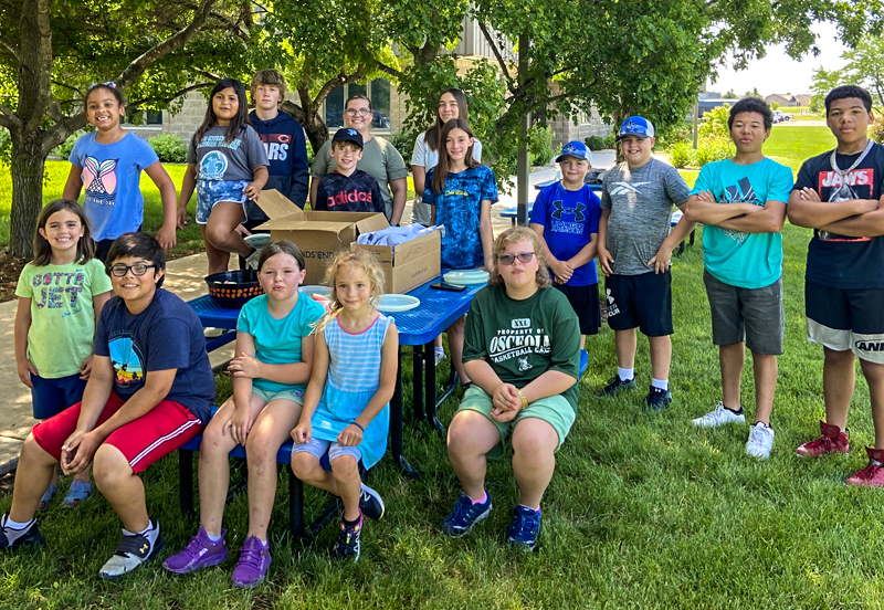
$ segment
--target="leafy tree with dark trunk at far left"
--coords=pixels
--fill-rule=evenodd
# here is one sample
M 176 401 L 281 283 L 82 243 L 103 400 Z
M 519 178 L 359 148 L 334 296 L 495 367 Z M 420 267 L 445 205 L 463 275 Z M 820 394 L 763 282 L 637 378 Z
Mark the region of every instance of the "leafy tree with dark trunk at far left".
M 245 0 L 0 0 L 14 255 L 31 255 L 45 159 L 86 125 L 88 84 L 113 81 L 130 106 L 168 107 L 213 70 L 236 65 L 251 10 Z

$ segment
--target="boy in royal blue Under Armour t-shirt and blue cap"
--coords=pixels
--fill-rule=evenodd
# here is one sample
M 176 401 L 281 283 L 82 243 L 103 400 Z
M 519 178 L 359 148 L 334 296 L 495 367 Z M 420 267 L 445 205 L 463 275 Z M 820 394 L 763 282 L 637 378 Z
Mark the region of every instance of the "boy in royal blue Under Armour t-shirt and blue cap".
M 532 229 L 552 273 L 552 285 L 565 293 L 580 319 L 580 347 L 601 325 L 596 249 L 601 201 L 583 183 L 592 154 L 581 141 L 569 141 L 556 158 L 561 180 L 537 194 Z

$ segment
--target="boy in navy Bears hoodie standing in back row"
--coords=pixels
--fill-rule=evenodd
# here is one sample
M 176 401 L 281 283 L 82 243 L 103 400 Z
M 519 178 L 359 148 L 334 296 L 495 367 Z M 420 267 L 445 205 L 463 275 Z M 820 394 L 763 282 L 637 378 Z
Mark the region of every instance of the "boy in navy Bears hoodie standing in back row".
M 261 70 L 252 78 L 252 102 L 249 113 L 252 127 L 261 136 L 270 159 L 270 178 L 264 189 L 276 189 L 298 208 L 309 192 L 309 165 L 304 128 L 288 113 L 280 112 L 286 94 L 285 78 L 276 70 Z M 250 202 L 248 227 L 265 222 L 267 217 Z

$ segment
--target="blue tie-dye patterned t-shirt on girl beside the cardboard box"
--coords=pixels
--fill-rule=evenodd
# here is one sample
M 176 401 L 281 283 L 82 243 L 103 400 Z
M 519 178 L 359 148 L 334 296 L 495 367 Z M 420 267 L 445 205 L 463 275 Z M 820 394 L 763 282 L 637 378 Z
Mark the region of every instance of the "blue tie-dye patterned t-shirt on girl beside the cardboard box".
M 486 166 L 449 172 L 445 188 L 435 193 L 430 186 L 433 171 L 427 172 L 423 202 L 435 206 L 435 223 L 445 225 L 442 238 L 442 266 L 474 269 L 485 264 L 478 234 L 482 201 L 497 201 L 497 182 Z

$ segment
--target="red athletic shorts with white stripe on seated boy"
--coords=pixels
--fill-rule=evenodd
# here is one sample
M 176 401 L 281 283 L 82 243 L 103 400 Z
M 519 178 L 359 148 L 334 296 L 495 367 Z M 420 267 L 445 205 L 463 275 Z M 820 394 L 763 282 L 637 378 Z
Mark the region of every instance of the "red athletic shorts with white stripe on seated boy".
M 123 399 L 110 392 L 110 398 L 95 425 L 98 427 L 107 421 L 124 404 Z M 62 459 L 64 441 L 76 430 L 81 406 L 82 402 L 77 402 L 33 428 L 32 433 L 36 444 L 59 461 Z M 137 420 L 114 430 L 104 442 L 117 448 L 129 461 L 133 472 L 138 474 L 199 434 L 201 430 L 202 422 L 187 407 L 171 400 L 162 400 Z

